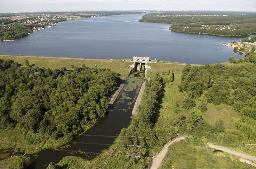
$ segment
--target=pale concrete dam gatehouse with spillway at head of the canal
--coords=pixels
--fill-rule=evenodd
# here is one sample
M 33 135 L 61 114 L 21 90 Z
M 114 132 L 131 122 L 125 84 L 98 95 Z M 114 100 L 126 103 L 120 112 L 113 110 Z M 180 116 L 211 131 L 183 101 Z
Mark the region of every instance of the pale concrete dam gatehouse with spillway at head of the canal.
M 147 78 L 148 69 L 152 69 L 152 67 L 147 65 L 147 63 L 150 62 L 150 58 L 149 57 L 133 56 L 133 61 L 134 61 L 134 64 L 128 66 L 128 67 L 132 68 L 129 71 L 129 75 L 135 71 L 140 72 L 140 73 L 143 73 L 145 71 L 145 77 Z

